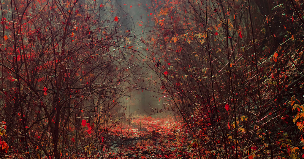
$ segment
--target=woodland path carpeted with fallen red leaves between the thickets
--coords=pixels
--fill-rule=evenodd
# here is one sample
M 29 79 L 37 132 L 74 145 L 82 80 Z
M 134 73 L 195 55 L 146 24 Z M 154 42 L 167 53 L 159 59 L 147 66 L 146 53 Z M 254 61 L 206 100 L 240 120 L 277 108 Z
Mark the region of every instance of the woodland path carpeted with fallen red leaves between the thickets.
M 186 125 L 168 118 L 133 118 L 111 129 L 105 158 L 195 158 Z M 192 145 L 191 147 L 189 145 Z

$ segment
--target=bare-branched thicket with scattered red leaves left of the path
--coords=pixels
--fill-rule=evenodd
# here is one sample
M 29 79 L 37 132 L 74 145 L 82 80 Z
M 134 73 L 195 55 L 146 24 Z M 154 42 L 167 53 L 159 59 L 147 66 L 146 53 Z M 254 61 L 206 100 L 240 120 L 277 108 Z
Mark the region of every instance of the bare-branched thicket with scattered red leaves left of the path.
M 1 157 L 102 157 L 135 70 L 113 5 L 1 3 Z

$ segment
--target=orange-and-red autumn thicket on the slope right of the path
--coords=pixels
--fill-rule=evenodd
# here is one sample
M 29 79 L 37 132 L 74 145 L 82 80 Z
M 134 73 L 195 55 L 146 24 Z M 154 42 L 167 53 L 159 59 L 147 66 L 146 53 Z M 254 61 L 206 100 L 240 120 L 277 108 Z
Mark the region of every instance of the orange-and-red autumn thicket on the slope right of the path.
M 302 1 L 152 4 L 151 82 L 199 157 L 302 156 Z

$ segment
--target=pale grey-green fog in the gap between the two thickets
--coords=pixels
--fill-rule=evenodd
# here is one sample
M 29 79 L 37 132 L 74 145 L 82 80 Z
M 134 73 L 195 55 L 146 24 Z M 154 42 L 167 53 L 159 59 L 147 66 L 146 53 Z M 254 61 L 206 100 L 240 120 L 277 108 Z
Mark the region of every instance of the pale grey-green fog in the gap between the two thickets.
M 146 24 L 154 26 L 154 22 L 149 22 L 148 7 L 152 6 L 151 1 L 147 0 L 116 0 L 113 3 L 115 13 L 119 17 L 119 23 L 125 30 L 130 30 L 131 36 L 137 37 L 134 45 L 136 47 L 144 47 L 144 44 L 139 38 L 146 39 L 150 36 L 150 30 L 152 28 L 145 27 Z M 151 11 L 149 10 L 149 13 Z M 155 13 L 153 13 L 155 14 Z M 140 27 L 139 24 L 142 24 Z M 138 43 L 137 43 L 138 42 Z M 145 58 L 147 54 L 144 50 L 139 50 L 139 60 Z M 142 61 L 142 60 L 141 60 Z M 164 106 L 163 100 L 160 98 L 161 94 L 155 93 L 154 88 L 150 88 L 148 79 L 155 76 L 151 70 L 147 67 L 147 64 L 142 62 L 140 64 L 140 71 L 136 72 L 138 81 L 136 89 L 126 93 L 126 97 L 123 97 L 119 103 L 124 107 L 121 111 L 122 115 L 136 116 L 136 115 L 151 115 L 151 116 L 163 116 L 164 113 L 155 113 L 157 110 L 162 109 Z M 152 73 L 151 73 L 152 72 Z M 157 77 L 155 77 L 157 79 Z M 126 109 L 125 109 L 126 108 Z

